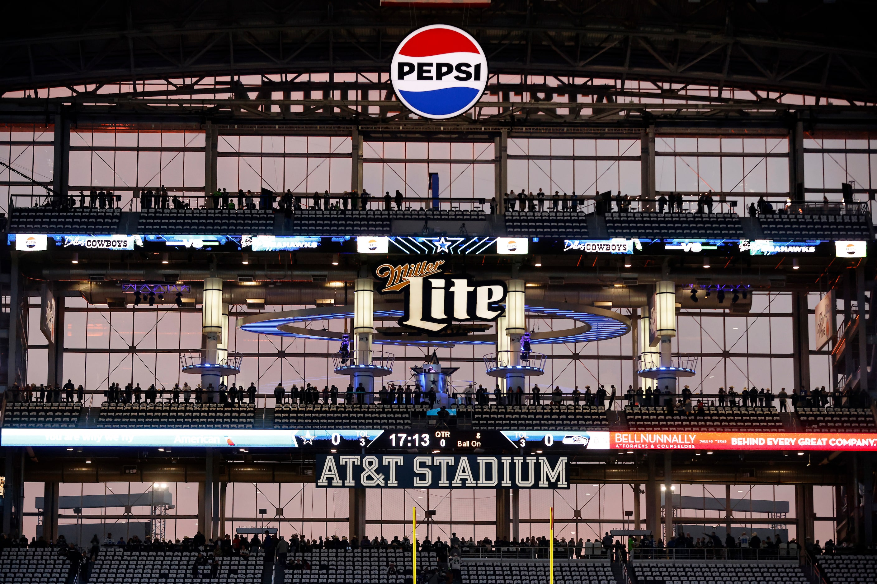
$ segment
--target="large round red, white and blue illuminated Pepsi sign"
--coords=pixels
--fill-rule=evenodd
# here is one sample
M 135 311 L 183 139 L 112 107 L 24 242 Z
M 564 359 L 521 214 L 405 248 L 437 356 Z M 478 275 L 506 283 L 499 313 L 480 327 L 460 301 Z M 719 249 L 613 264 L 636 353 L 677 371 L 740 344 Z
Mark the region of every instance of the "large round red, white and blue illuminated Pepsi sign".
M 399 101 L 418 116 L 459 116 L 481 98 L 488 60 L 478 42 L 459 28 L 430 25 L 405 37 L 390 64 Z

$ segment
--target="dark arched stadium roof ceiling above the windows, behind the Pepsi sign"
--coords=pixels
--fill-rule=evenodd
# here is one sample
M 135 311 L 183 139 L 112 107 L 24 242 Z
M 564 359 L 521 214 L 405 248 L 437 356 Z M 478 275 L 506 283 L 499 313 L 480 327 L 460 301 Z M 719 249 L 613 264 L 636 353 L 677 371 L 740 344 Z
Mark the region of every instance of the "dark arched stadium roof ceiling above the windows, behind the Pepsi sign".
M 479 40 L 495 74 L 653 81 L 670 95 L 668 83 L 714 85 L 719 95 L 742 88 L 759 100 L 765 92 L 849 102 L 873 102 L 877 95 L 868 4 L 495 0 L 483 9 L 430 10 L 277 0 L 232 11 L 189 0 L 17 8 L 16 25 L 0 41 L 4 92 L 67 86 L 77 93 L 83 84 L 208 75 L 321 71 L 331 79 L 336 72 L 385 71 L 408 32 L 445 23 Z

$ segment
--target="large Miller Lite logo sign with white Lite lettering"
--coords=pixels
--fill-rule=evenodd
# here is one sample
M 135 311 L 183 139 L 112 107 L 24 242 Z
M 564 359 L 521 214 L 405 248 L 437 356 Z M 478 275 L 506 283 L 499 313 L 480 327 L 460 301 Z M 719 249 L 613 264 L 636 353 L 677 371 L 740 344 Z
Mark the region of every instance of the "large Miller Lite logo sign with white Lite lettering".
M 399 325 L 439 334 L 452 322 L 492 321 L 503 315 L 506 285 L 501 280 L 474 281 L 442 275 L 438 262 L 381 264 L 375 276 L 386 281 L 381 293 L 403 292 L 404 316 Z

